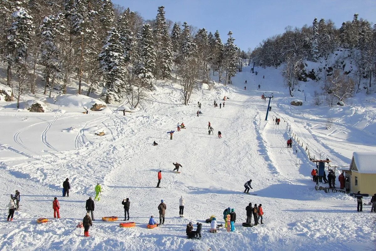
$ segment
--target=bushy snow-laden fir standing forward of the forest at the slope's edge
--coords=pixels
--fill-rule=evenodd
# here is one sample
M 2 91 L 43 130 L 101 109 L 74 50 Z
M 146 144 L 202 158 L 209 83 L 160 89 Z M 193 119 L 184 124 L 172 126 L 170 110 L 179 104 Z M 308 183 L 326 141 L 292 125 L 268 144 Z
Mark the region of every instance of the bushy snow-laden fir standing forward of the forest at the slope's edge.
M 106 103 L 110 100 L 119 102 L 123 98 L 127 69 L 124 64 L 123 46 L 120 42 L 120 34 L 113 27 L 103 43 L 102 52 L 99 54 L 100 65 L 103 70 L 104 88 L 102 96 Z

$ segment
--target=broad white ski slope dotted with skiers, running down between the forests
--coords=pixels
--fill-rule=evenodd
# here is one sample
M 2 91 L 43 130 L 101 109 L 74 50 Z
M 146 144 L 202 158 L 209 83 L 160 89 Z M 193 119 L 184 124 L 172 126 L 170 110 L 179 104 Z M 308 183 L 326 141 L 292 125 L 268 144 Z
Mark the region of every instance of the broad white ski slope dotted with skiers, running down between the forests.
M 3 205 L 15 189 L 21 192 L 21 210 L 13 222 L 0 221 L 0 250 L 364 250 L 374 246 L 373 214 L 364 207 L 356 212 L 355 199 L 314 189 L 305 152 L 296 145 L 286 148 L 293 130 L 315 152 L 336 164 L 349 164 L 348 156 L 336 152 L 330 137 L 319 136 L 312 119 L 302 115 L 305 107 L 291 108 L 273 70 L 258 69 L 259 75 L 243 68 L 232 86 L 215 85 L 197 89 L 190 105 L 181 104 L 179 87 L 158 82 L 157 90 L 137 113 L 89 113 L 70 110 L 64 114 L 0 111 L 4 133 L 0 141 L 0 189 Z M 265 79 L 262 76 L 265 75 Z M 247 91 L 244 81 L 247 79 Z M 261 90 L 256 86 L 261 83 Z M 267 102 L 261 94 L 273 92 L 272 111 L 265 121 Z M 230 99 L 214 108 L 213 102 Z M 196 116 L 197 101 L 203 114 Z M 316 114 L 317 116 L 317 114 Z M 281 118 L 280 125 L 273 119 Z M 208 135 L 208 122 L 214 135 Z M 186 129 L 176 131 L 176 124 Z M 370 122 L 372 123 L 372 122 Z M 338 126 L 340 126 L 338 122 Z M 348 133 L 358 130 L 346 127 Z M 173 140 L 168 131 L 175 130 Z M 352 131 L 350 131 L 352 130 Z M 105 131 L 99 137 L 94 132 Z M 221 131 L 222 138 L 217 132 Z M 153 141 L 158 146 L 153 146 Z M 323 143 L 324 141 L 328 143 Z M 359 140 L 361 141 L 361 140 Z M 342 143 L 342 142 L 341 142 Z M 347 145 L 346 142 L 342 143 Z M 359 142 L 353 142 L 354 145 Z M 363 146 L 373 151 L 375 145 Z M 172 173 L 173 162 L 182 164 Z M 155 188 L 162 170 L 161 189 Z M 63 198 L 61 186 L 70 179 L 70 197 Z M 252 179 L 252 193 L 243 184 Z M 95 202 L 96 221 L 83 236 L 76 225 L 85 216 L 85 201 L 102 184 L 100 202 Z M 179 218 L 179 198 L 186 201 L 185 218 Z M 57 196 L 61 219 L 53 219 L 52 201 Z M 135 228 L 120 228 L 123 198 L 130 198 L 130 221 Z M 147 229 L 150 215 L 158 219 L 158 204 L 167 204 L 165 225 Z M 262 204 L 264 223 L 244 228 L 245 207 Z M 188 222 L 205 222 L 212 214 L 223 223 L 224 208 L 235 208 L 235 232 L 208 232 L 203 238 L 185 236 Z M 120 221 L 103 222 L 103 216 Z M 36 224 L 40 217 L 47 224 Z M 51 219 L 52 218 L 52 219 Z

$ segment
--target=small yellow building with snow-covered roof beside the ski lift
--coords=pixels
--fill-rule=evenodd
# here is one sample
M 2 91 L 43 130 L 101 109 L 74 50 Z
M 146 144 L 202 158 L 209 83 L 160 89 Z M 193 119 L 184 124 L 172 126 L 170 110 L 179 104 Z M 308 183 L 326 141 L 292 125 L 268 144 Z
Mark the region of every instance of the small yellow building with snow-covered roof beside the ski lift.
M 376 193 L 376 153 L 353 152 L 349 169 L 345 173 L 345 188 L 352 193 Z

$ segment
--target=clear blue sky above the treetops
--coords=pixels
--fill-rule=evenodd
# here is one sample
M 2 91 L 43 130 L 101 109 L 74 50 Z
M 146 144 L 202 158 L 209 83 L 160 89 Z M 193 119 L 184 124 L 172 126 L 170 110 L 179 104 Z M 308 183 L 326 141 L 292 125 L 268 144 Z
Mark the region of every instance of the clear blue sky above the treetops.
M 376 23 L 376 0 L 112 0 L 145 19 L 165 6 L 166 18 L 220 32 L 222 41 L 232 30 L 235 43 L 247 51 L 263 39 L 284 32 L 286 26 L 311 25 L 315 17 L 331 19 L 337 27 L 354 13 Z

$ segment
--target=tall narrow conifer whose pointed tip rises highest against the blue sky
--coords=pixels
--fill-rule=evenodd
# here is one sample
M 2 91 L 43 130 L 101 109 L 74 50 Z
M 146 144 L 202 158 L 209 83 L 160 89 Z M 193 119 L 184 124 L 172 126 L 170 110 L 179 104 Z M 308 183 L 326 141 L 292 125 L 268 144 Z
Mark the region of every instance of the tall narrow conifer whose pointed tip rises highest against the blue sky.
M 171 67 L 173 64 L 173 55 L 171 52 L 171 38 L 168 35 L 164 6 L 158 7 L 158 14 L 155 18 L 154 30 L 154 49 L 155 57 L 155 70 L 154 76 L 162 79 L 170 78 Z

